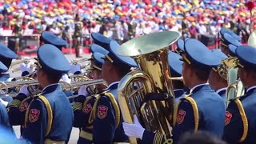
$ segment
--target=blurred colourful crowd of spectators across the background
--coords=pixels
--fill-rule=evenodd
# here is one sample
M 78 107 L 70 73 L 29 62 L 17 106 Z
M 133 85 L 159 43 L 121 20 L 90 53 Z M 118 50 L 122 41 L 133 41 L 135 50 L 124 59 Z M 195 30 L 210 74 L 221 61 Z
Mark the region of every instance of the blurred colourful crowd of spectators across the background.
M 126 42 L 162 30 L 184 38 L 216 36 L 222 27 L 246 42 L 256 20 L 244 0 L 1 0 L 0 13 L 1 30 L 18 35 L 47 30 L 68 41 L 80 30 L 84 44 L 91 32 Z

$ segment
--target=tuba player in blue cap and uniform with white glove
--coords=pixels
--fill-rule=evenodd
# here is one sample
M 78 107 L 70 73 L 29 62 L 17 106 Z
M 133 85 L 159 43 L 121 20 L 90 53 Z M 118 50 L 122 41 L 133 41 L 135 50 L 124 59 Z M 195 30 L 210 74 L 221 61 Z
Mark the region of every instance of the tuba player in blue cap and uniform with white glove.
M 177 143 L 180 136 L 189 130 L 206 130 L 222 136 L 224 102 L 207 83 L 211 68 L 218 66 L 220 62 L 216 61 L 214 54 L 202 42 L 192 38 L 185 42 L 182 60 L 183 82 L 190 88 L 190 94 L 180 100 L 174 112 L 176 124 L 173 127 L 173 136 L 145 130 L 136 121 L 136 117 L 134 124 L 123 123 L 128 136 L 141 138 L 141 143 Z

